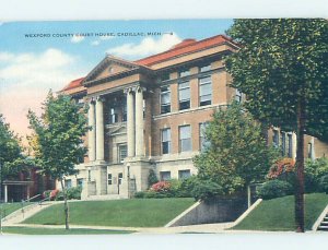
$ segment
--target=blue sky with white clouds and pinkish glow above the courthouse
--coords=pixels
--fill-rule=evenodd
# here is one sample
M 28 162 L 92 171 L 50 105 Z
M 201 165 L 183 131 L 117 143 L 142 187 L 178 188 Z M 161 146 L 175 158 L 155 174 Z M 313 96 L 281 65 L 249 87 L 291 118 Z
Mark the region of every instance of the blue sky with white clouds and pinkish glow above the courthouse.
M 85 76 L 106 53 L 137 60 L 224 32 L 233 20 L 51 21 L 0 23 L 0 114 L 25 136 L 28 109 L 49 90 Z

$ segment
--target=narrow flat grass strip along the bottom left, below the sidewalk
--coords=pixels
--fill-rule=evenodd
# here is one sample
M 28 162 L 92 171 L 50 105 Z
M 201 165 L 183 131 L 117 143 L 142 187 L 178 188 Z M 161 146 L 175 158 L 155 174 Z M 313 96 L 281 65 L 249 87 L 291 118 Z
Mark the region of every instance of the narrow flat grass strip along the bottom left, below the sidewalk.
M 35 227 L 3 227 L 4 234 L 16 235 L 120 235 L 131 234 L 132 230 L 107 230 L 89 228 L 35 228 Z

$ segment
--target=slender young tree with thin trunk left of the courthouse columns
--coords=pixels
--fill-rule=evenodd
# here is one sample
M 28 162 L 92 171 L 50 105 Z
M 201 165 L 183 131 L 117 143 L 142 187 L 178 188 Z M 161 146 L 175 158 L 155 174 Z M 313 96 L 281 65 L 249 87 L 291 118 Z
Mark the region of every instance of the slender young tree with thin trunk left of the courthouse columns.
M 69 96 L 55 97 L 51 92 L 43 104 L 43 109 L 40 118 L 28 110 L 30 126 L 34 131 L 31 146 L 35 153 L 36 165 L 42 171 L 60 181 L 65 199 L 66 229 L 69 229 L 65 177 L 78 174 L 74 165 L 80 163 L 86 152 L 82 141 L 89 130 L 86 110 Z

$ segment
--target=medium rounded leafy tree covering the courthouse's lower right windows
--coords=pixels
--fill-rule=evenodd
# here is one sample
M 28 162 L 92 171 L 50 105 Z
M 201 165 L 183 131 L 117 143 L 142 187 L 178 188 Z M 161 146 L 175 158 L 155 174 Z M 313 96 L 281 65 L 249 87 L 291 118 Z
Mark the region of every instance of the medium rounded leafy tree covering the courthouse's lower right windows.
M 215 194 L 223 195 L 265 180 L 277 152 L 267 146 L 261 131 L 237 103 L 215 111 L 206 129 L 209 146 L 194 158 L 198 178 L 216 183 Z

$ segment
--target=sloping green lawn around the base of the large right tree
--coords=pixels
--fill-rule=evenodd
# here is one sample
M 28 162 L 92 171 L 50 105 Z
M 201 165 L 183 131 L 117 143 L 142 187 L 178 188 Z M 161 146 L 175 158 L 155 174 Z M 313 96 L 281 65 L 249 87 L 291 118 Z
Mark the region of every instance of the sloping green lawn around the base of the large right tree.
M 325 193 L 305 195 L 305 228 L 312 229 L 328 204 Z M 244 221 L 232 229 L 243 230 L 295 230 L 294 197 L 262 201 Z

